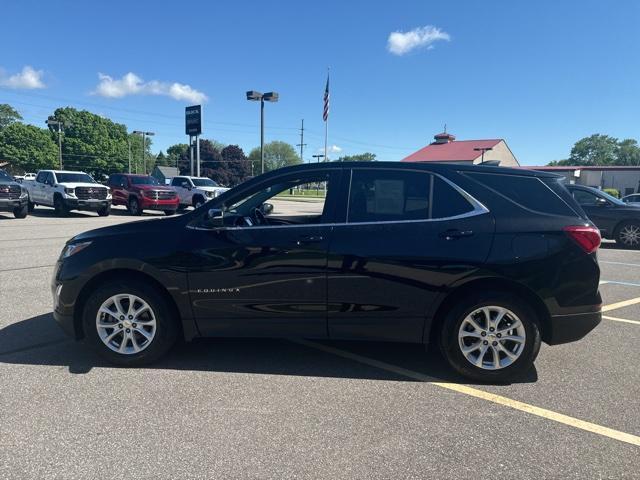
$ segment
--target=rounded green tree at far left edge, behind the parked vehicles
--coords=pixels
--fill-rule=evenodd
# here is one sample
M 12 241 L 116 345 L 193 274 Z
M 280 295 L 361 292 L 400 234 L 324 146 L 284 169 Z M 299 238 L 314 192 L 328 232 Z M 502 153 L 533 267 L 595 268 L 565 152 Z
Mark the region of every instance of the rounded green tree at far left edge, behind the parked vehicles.
M 12 123 L 0 130 L 0 159 L 13 172 L 35 172 L 58 167 L 58 146 L 46 129 Z

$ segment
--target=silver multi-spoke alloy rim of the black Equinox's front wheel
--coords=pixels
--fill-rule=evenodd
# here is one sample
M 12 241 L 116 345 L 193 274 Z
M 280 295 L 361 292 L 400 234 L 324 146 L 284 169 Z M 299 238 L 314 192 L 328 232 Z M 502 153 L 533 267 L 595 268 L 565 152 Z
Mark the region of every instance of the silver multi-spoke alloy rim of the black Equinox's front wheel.
M 142 298 L 118 294 L 109 297 L 98 309 L 96 329 L 109 349 L 132 355 L 151 345 L 156 334 L 156 317 Z

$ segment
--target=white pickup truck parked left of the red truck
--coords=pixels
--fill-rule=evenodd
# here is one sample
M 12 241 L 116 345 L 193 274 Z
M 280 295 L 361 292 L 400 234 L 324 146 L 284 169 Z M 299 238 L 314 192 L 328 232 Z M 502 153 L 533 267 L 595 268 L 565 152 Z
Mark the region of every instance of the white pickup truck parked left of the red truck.
M 56 209 L 60 216 L 70 210 L 98 212 L 106 217 L 111 211 L 111 192 L 84 172 L 40 170 L 35 180 L 24 180 L 29 195 L 29 211 L 36 205 Z

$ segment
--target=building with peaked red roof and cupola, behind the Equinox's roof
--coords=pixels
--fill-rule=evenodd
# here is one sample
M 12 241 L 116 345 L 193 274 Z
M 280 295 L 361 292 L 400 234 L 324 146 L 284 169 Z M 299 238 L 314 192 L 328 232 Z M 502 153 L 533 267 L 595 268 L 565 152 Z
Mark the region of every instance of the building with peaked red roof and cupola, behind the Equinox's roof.
M 412 153 L 403 162 L 447 162 L 447 163 L 491 163 L 498 162 L 503 167 L 517 167 L 520 164 L 507 143 L 501 138 L 488 140 L 456 140 L 450 133 L 442 132 L 434 141 L 417 152 Z

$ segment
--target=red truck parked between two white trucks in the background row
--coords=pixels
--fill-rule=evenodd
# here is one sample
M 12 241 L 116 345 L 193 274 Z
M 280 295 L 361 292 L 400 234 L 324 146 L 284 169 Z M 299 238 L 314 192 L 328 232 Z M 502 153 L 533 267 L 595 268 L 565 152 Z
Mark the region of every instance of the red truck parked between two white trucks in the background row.
M 173 215 L 180 199 L 175 190 L 160 185 L 149 175 L 114 173 L 109 176 L 112 204 L 125 205 L 132 215 L 142 215 L 143 210 L 161 210 Z

